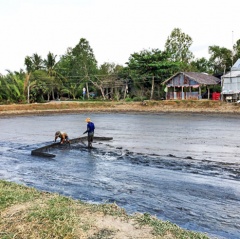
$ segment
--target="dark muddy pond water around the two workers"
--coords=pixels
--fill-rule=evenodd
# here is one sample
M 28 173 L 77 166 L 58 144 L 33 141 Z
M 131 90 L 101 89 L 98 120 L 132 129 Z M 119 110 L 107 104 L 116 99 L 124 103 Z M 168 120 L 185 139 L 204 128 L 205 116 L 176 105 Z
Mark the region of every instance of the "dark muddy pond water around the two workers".
M 57 130 L 113 141 L 31 156 Z M 88 202 L 116 202 L 213 238 L 240 238 L 240 116 L 91 114 L 0 119 L 0 178 Z

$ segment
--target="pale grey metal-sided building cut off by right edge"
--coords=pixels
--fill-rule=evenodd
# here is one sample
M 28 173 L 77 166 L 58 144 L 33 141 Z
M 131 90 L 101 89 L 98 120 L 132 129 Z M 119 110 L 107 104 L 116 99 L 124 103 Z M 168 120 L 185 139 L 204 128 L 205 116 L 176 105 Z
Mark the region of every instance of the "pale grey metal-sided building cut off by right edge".
M 224 101 L 240 99 L 240 59 L 232 66 L 230 72 L 221 77 Z

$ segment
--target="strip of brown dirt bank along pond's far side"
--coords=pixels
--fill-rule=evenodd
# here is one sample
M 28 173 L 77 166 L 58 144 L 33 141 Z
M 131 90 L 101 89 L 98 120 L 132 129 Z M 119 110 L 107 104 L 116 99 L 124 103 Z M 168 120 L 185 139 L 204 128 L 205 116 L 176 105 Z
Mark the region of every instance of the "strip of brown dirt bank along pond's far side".
M 0 115 L 76 112 L 197 112 L 240 114 L 240 104 L 221 101 L 52 101 L 48 103 L 0 105 Z

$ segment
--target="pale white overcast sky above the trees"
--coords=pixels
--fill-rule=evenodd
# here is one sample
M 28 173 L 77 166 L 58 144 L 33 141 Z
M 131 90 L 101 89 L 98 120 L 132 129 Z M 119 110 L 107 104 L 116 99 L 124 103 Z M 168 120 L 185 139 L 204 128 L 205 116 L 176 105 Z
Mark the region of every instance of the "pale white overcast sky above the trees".
M 0 0 L 0 74 L 25 70 L 34 53 L 58 60 L 81 38 L 98 65 L 125 65 L 134 52 L 164 50 L 175 28 L 192 38 L 195 58 L 208 59 L 213 45 L 232 50 L 238 0 Z

